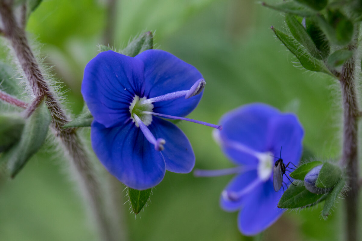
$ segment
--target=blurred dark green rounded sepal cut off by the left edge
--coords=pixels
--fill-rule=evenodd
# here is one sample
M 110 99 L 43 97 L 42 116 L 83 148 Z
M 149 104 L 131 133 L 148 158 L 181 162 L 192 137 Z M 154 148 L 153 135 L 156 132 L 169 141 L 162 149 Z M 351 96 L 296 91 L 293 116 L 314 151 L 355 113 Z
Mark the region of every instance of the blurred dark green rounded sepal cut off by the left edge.
M 21 137 L 25 120 L 17 113 L 0 115 L 0 152 L 8 150 Z

